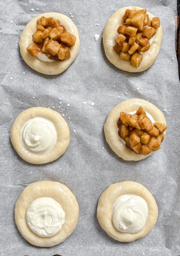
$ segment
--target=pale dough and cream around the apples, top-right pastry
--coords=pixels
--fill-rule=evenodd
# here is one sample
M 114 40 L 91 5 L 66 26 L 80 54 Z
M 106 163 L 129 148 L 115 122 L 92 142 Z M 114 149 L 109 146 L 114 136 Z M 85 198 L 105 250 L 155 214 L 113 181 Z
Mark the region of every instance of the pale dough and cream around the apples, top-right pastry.
M 103 45 L 106 57 L 108 60 L 117 68 L 128 71 L 128 72 L 141 72 L 149 67 L 152 66 L 152 64 L 155 62 L 155 60 L 158 57 L 158 53 L 161 47 L 161 42 L 163 38 L 163 30 L 160 26 L 158 29 L 156 29 L 156 34 L 154 38 L 154 42 L 150 46 L 149 50 L 147 52 L 141 52 L 143 55 L 143 60 L 138 68 L 133 67 L 130 64 L 130 61 L 122 60 L 119 58 L 119 54 L 117 54 L 113 46 L 116 44 L 116 39 L 118 36 L 117 29 L 122 23 L 124 23 L 123 15 L 125 14 L 125 11 L 127 9 L 130 10 L 141 10 L 143 8 L 137 7 L 137 6 L 128 6 L 123 7 L 116 11 L 107 21 L 104 31 L 103 31 Z M 151 19 L 155 17 L 153 14 L 147 11 L 147 14 L 150 15 Z

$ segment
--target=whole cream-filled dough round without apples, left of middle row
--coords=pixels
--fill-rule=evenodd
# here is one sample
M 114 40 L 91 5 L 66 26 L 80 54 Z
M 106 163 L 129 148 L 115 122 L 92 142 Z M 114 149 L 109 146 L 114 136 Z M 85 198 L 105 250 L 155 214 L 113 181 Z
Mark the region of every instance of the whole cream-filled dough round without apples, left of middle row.
M 64 154 L 69 145 L 70 131 L 58 112 L 35 107 L 19 114 L 11 128 L 10 139 L 25 161 L 46 164 Z

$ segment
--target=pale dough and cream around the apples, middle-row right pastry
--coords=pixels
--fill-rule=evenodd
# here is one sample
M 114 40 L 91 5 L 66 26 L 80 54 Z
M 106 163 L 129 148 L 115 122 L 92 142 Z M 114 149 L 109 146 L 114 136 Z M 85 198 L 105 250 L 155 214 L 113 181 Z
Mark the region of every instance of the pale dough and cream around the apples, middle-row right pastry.
M 116 153 L 116 155 L 126 161 L 139 161 L 154 153 L 154 151 L 152 151 L 148 155 L 137 154 L 131 149 L 127 148 L 125 146 L 125 142 L 118 135 L 117 121 L 119 120 L 120 112 L 130 113 L 137 111 L 139 107 L 143 107 L 147 113 L 151 114 L 155 122 L 166 124 L 164 114 L 149 101 L 142 99 L 128 99 L 119 103 L 115 108 L 113 108 L 104 124 L 104 133 L 106 141 L 110 145 L 111 149 Z M 165 133 L 166 131 L 164 134 Z

